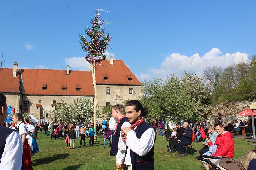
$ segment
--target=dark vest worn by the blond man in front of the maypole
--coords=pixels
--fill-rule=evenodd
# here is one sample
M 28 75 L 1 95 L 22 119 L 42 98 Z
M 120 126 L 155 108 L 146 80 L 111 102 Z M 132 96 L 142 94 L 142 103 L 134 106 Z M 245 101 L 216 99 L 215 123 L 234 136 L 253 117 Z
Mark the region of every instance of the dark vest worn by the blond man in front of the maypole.
M 110 149 L 110 156 L 116 156 L 118 152 L 118 141 L 119 141 L 119 136 L 120 136 L 120 131 L 121 131 L 121 126 L 123 125 L 124 122 L 128 122 L 127 117 L 124 117 L 120 120 L 120 123 L 117 126 L 116 133 L 112 137 L 112 145 Z

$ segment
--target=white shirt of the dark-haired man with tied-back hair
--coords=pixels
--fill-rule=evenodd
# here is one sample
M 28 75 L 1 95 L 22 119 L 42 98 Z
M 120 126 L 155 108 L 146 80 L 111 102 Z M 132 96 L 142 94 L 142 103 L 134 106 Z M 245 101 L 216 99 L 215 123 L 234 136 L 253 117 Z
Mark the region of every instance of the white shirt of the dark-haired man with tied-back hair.
M 134 130 L 137 127 L 134 128 Z M 155 131 L 153 128 L 147 129 L 138 139 L 135 131 L 129 131 L 126 135 L 126 145 L 128 146 L 124 164 L 132 165 L 130 149 L 139 156 L 145 156 L 153 147 L 155 141 Z

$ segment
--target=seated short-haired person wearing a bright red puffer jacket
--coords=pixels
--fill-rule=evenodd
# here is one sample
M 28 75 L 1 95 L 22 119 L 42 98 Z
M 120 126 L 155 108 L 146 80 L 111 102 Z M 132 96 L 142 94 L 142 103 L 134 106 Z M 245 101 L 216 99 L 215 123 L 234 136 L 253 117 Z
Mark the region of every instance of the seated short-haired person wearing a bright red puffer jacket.
M 216 157 L 229 157 L 229 158 L 233 158 L 234 155 L 234 140 L 233 140 L 233 135 L 229 132 L 229 131 L 225 131 L 223 124 L 218 123 L 215 125 L 215 130 L 218 133 L 218 136 L 216 138 L 216 141 L 214 143 L 214 145 L 217 145 L 217 150 L 214 154 L 212 154 L 212 156 L 216 156 Z M 210 141 L 210 138 L 206 138 L 208 145 L 212 146 L 212 141 Z M 211 159 L 209 159 L 211 160 Z M 213 163 L 215 162 L 214 160 L 211 160 Z M 206 170 L 209 170 L 211 168 L 211 166 L 209 164 L 204 164 L 204 167 Z

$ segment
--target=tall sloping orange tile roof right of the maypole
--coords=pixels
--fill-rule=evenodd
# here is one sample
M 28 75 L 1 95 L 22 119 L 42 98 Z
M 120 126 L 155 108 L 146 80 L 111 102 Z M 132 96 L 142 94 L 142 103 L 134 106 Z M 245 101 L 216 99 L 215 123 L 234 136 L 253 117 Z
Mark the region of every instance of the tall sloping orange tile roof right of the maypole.
M 96 65 L 96 84 L 142 85 L 122 60 L 113 60 L 113 65 L 109 60 L 104 60 L 101 65 L 103 67 Z M 104 80 L 106 76 L 108 79 Z

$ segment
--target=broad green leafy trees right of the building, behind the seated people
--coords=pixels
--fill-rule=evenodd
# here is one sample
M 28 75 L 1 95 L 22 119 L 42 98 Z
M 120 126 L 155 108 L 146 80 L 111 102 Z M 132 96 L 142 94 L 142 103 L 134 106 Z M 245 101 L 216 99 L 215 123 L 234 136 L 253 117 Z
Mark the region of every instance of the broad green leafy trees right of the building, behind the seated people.
M 149 110 L 149 118 L 167 118 L 172 121 L 201 118 L 209 112 L 210 91 L 201 75 L 185 72 L 174 74 L 165 83 L 161 79 L 143 82 L 141 102 Z

